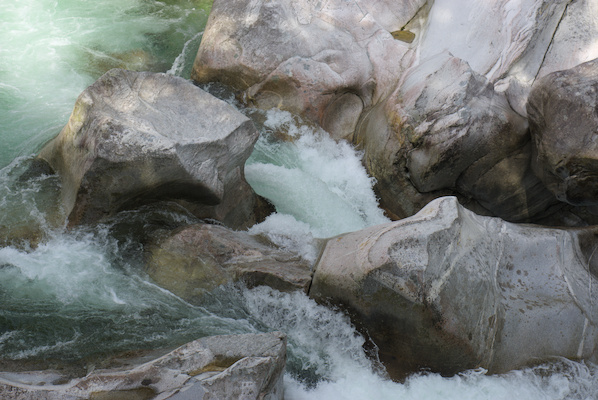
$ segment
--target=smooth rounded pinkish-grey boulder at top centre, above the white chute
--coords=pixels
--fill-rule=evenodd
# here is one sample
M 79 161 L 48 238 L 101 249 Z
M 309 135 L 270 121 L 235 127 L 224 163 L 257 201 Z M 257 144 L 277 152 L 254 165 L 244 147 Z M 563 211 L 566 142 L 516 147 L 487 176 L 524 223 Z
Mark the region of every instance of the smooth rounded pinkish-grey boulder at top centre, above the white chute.
M 216 0 L 191 78 L 221 81 L 258 107 L 295 112 L 351 140 L 361 112 L 390 93 L 411 59 L 415 42 L 391 31 L 416 26 L 425 3 Z

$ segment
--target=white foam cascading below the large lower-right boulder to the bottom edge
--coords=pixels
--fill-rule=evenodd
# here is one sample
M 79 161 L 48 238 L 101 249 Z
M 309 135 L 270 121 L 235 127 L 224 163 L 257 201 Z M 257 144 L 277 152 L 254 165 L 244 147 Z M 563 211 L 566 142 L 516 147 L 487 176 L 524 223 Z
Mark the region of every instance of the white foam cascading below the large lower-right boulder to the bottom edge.
M 346 315 L 298 292 L 260 287 L 243 298 L 263 330 L 288 335 L 286 400 L 590 400 L 598 393 L 598 367 L 565 359 L 502 375 L 479 369 L 393 382 L 366 356 Z

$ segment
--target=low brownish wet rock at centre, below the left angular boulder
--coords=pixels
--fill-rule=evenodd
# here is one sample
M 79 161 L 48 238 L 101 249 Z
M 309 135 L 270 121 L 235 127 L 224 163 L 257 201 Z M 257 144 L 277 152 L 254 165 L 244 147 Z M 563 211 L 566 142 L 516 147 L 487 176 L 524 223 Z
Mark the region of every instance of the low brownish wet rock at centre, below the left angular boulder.
M 268 239 L 222 226 L 196 224 L 173 231 L 147 246 L 146 271 L 176 295 L 201 301 L 217 286 L 242 280 L 280 291 L 307 292 L 311 265 Z

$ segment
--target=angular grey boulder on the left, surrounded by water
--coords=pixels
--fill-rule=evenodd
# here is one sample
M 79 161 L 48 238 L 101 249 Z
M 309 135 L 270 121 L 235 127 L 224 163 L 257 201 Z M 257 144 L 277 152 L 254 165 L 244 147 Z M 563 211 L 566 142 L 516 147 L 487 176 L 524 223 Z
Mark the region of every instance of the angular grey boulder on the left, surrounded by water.
M 70 225 L 168 199 L 236 228 L 255 222 L 243 167 L 257 137 L 248 118 L 184 79 L 114 69 L 39 157 L 61 177 Z

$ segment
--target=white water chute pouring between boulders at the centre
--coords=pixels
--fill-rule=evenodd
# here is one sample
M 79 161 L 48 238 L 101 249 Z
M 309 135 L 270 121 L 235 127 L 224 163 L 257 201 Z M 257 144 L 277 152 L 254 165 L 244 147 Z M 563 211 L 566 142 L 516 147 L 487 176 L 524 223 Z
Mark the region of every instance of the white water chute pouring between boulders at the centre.
M 275 139 L 280 132 L 286 139 Z M 361 157 L 348 143 L 335 142 L 291 113 L 268 110 L 245 176 L 277 213 L 250 232 L 266 234 L 274 243 L 295 247 L 313 260 L 313 238 L 388 222 Z

